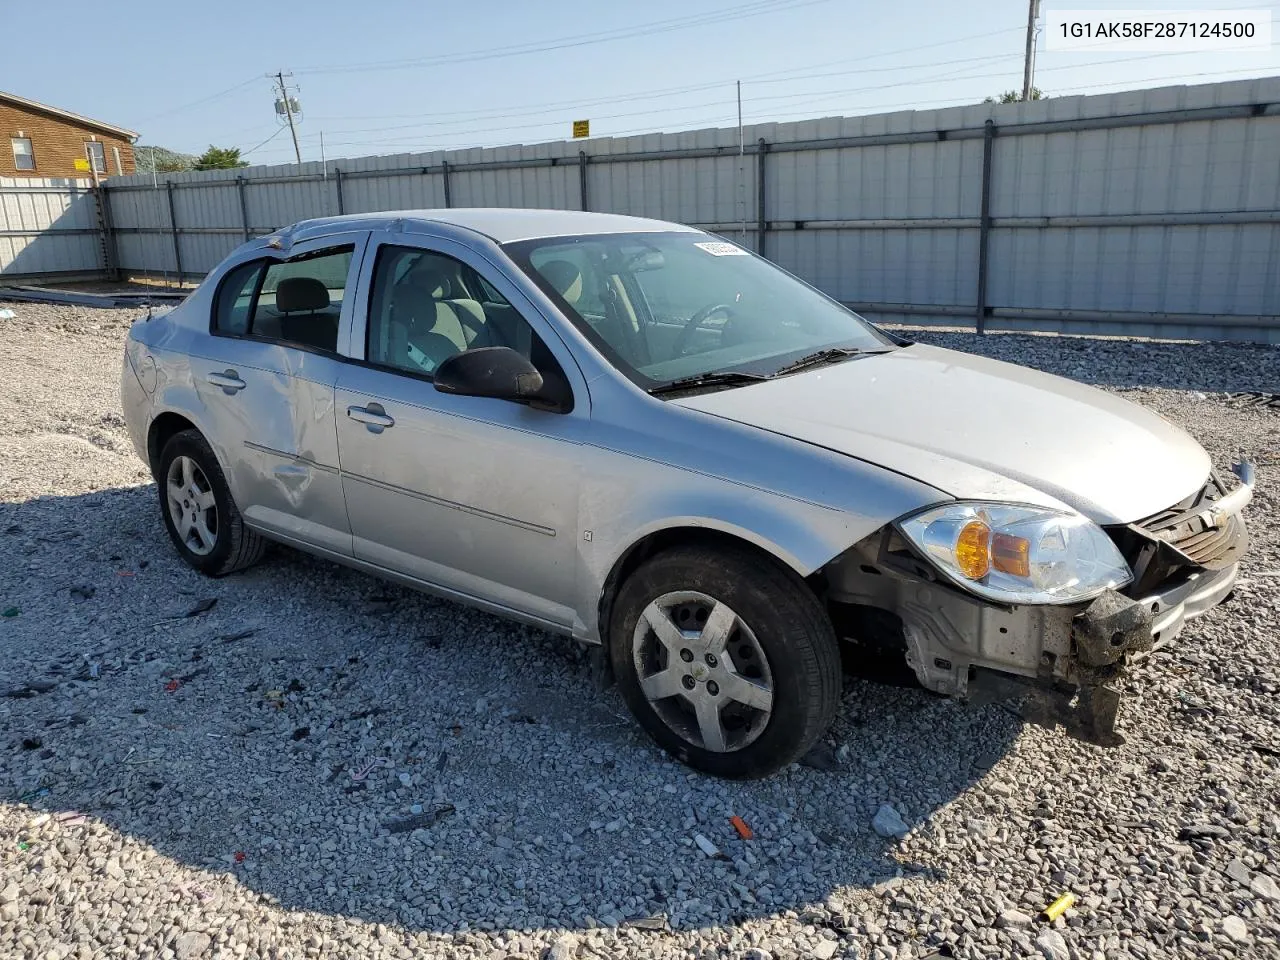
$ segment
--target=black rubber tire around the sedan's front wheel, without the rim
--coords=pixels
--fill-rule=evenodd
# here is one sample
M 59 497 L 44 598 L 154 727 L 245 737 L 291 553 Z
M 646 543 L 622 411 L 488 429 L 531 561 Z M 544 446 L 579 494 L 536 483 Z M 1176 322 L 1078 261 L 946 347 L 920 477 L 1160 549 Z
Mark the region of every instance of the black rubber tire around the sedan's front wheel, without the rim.
M 727 604 L 768 660 L 772 710 L 763 732 L 740 749 L 707 750 L 682 737 L 641 691 L 632 654 L 636 626 L 650 602 L 678 591 Z M 717 777 L 748 780 L 783 769 L 827 732 L 840 708 L 840 646 L 826 611 L 791 570 L 748 549 L 676 547 L 645 561 L 613 603 L 609 657 L 640 726 L 672 756 Z

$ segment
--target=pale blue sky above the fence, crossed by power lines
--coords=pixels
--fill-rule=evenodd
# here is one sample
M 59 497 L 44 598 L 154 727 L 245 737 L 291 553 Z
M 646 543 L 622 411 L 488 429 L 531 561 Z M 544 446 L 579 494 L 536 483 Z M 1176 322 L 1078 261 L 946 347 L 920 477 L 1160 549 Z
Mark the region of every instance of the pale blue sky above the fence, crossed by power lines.
M 142 143 L 293 159 L 268 72 L 293 73 L 303 160 L 977 102 L 1021 86 L 1025 0 L 339 0 L 106 10 L 5 4 L 0 88 Z M 1046 9 L 1051 0 L 1044 0 Z M 1280 0 L 1066 0 L 1057 9 L 1271 10 Z M 84 24 L 84 26 L 81 26 Z M 1267 51 L 1046 52 L 1050 96 L 1280 74 Z M 109 52 L 108 52 L 109 51 Z M 273 134 L 274 138 L 273 138 Z M 269 140 L 270 138 L 270 140 Z M 264 143 L 264 141 L 268 141 Z

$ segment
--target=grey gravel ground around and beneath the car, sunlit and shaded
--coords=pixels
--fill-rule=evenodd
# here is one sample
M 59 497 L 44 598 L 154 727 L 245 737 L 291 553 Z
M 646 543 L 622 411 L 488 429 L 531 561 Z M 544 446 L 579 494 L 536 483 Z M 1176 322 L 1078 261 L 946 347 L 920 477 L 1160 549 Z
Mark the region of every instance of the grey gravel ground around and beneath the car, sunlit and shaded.
M 131 314 L 9 306 L 0 956 L 1280 957 L 1280 410 L 1231 396 L 1280 351 L 922 335 L 1253 456 L 1236 596 L 1120 748 L 851 676 L 827 769 L 726 783 L 562 639 L 283 549 L 200 577 L 119 416 Z

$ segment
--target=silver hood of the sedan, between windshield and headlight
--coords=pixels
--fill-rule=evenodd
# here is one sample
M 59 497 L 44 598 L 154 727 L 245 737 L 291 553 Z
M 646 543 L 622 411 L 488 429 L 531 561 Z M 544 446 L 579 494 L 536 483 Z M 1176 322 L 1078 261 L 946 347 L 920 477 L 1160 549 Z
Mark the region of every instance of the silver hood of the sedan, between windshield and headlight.
M 671 401 L 877 463 L 957 499 L 1068 506 L 1128 524 L 1201 486 L 1210 460 L 1103 390 L 913 344 Z

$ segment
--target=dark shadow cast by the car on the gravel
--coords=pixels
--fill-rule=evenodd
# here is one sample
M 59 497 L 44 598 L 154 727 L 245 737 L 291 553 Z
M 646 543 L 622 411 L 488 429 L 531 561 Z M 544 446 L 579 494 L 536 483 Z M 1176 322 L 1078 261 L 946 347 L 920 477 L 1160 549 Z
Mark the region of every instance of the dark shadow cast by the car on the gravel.
M 284 549 L 201 577 L 154 486 L 3 504 L 0 552 L 0 796 L 169 858 L 148 869 L 192 909 L 247 890 L 443 932 L 836 923 L 832 893 L 916 872 L 877 809 L 931 829 L 1021 728 L 846 677 L 835 769 L 716 781 L 561 637 Z

